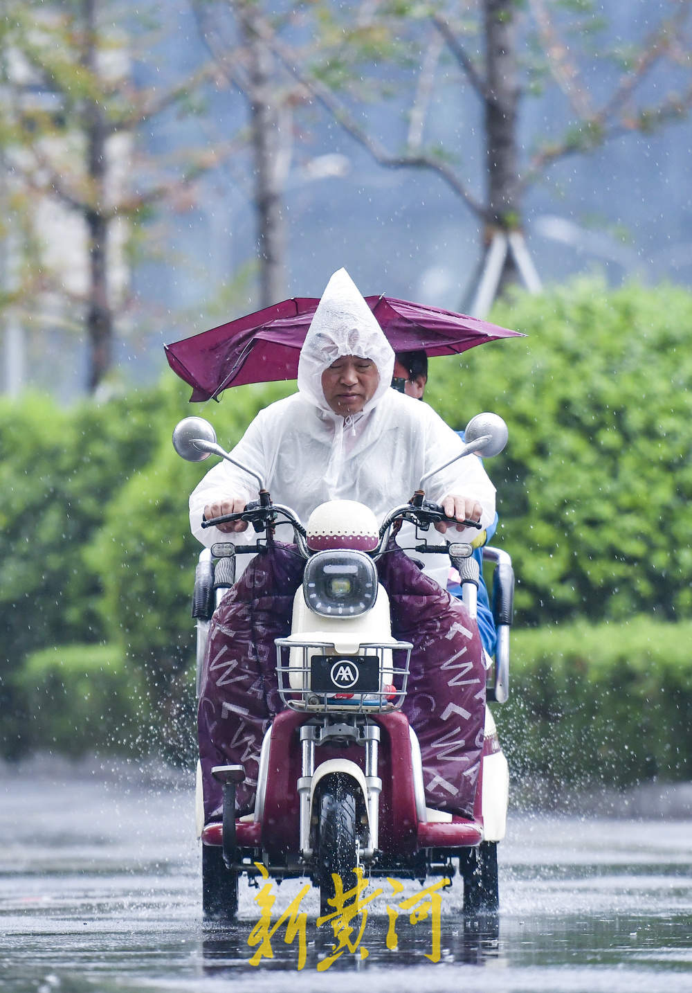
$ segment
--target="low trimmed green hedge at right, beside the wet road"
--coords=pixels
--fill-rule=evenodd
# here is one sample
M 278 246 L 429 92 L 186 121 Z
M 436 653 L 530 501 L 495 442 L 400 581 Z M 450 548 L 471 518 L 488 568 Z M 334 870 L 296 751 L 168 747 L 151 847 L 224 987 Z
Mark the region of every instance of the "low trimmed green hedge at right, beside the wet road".
M 692 780 L 692 623 L 635 617 L 511 636 L 511 692 L 493 707 L 515 780 Z

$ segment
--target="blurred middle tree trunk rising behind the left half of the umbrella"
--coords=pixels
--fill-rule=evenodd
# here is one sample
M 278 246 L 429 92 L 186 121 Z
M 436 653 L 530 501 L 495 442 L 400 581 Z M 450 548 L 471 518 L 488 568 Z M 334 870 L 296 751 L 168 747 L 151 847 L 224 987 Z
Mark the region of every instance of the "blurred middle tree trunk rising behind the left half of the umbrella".
M 282 182 L 282 114 L 276 100 L 274 58 L 255 27 L 254 2 L 239 5 L 240 23 L 249 53 L 250 124 L 254 160 L 257 252 L 260 260 L 260 307 L 268 307 L 286 295 L 286 222 Z

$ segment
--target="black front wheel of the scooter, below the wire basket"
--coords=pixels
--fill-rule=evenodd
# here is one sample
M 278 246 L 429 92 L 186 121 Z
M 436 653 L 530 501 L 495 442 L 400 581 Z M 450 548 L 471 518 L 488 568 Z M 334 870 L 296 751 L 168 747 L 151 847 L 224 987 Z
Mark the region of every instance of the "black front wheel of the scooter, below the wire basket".
M 316 875 L 324 917 L 336 910 L 329 903 L 336 896 L 333 876 L 340 877 L 345 893 L 357 882 L 353 870 L 358 864 L 358 837 L 352 781 L 346 776 L 329 776 L 321 787 Z

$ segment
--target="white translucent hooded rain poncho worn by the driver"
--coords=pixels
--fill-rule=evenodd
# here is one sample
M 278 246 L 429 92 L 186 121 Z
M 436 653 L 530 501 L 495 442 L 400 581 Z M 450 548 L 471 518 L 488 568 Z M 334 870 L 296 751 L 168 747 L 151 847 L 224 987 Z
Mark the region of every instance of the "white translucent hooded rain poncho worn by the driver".
M 342 417 L 328 404 L 322 373 L 340 355 L 370 358 L 379 382 L 361 413 Z M 392 389 L 394 354 L 379 325 L 347 275 L 335 273 L 313 318 L 298 365 L 298 392 L 261 410 L 232 451 L 233 459 L 248 466 L 264 481 L 276 503 L 292 507 L 305 523 L 320 503 L 355 499 L 374 512 L 378 521 L 393 507 L 406 502 L 431 469 L 445 465 L 462 442 L 445 422 L 420 400 Z M 426 497 L 439 502 L 449 494 L 472 497 L 483 507 L 481 523 L 494 517 L 494 487 L 481 460 L 467 456 L 427 483 Z M 246 502 L 256 499 L 252 477 L 228 462 L 220 462 L 190 497 L 193 533 L 210 546 L 231 540 L 253 544 L 252 528 L 232 535 L 201 526 L 208 503 L 227 497 Z M 478 531 L 454 529 L 455 537 L 471 540 Z M 292 540 L 288 524 L 276 536 Z M 404 524 L 397 540 L 406 548 L 414 541 L 412 525 Z M 425 571 L 441 586 L 447 585 L 449 559 L 425 560 Z M 238 575 L 249 556 L 238 558 Z

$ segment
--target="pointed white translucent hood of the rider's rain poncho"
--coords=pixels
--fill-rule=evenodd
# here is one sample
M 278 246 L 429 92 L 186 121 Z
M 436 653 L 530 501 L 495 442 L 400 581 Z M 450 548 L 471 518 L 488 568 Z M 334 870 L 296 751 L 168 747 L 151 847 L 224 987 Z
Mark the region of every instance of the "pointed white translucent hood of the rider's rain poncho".
M 322 373 L 341 355 L 369 358 L 377 366 L 379 382 L 363 407 L 367 413 L 391 385 L 394 353 L 346 269 L 335 272 L 327 284 L 298 361 L 299 392 L 332 417 L 338 415 L 325 399 Z

